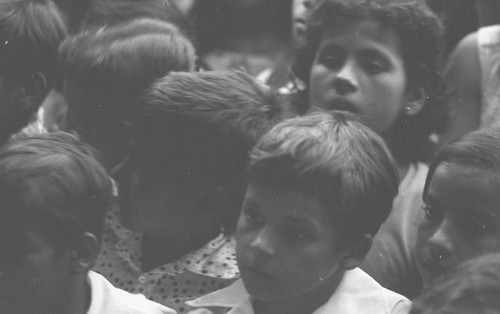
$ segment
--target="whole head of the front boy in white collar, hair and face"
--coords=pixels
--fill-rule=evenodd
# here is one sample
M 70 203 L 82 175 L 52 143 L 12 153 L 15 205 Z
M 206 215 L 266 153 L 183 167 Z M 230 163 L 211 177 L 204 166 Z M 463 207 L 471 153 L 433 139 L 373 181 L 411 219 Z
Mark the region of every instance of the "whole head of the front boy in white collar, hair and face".
M 364 259 L 398 191 L 383 140 L 328 113 L 275 126 L 252 150 L 248 176 L 237 259 L 248 292 L 264 302 L 325 289 L 330 297 Z

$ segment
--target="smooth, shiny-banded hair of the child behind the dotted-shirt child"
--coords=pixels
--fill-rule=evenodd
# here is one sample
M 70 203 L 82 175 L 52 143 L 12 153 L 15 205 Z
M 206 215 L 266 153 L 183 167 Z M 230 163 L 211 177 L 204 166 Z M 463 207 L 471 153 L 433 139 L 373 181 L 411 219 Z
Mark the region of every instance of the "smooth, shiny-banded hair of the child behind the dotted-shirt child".
M 192 44 L 175 27 L 139 19 L 68 38 L 60 47 L 59 70 L 96 106 L 125 107 L 155 79 L 190 71 L 194 62 Z

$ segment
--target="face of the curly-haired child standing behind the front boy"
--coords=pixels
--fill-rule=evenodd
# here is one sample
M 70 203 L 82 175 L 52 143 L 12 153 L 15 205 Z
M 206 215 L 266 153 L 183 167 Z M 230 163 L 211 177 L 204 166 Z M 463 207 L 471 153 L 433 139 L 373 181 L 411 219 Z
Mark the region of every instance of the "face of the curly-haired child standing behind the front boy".
M 338 19 L 323 34 L 309 84 L 313 106 L 344 112 L 385 134 L 407 103 L 396 32 L 371 19 Z

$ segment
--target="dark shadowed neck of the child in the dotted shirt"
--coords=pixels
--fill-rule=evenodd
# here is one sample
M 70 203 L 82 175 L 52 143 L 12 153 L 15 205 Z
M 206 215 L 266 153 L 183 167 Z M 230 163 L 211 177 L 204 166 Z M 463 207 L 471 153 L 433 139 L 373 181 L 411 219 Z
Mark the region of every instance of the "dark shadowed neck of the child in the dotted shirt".
M 216 222 L 197 226 L 182 226 L 168 236 L 144 235 L 142 239 L 142 269 L 149 271 L 202 248 L 220 233 Z

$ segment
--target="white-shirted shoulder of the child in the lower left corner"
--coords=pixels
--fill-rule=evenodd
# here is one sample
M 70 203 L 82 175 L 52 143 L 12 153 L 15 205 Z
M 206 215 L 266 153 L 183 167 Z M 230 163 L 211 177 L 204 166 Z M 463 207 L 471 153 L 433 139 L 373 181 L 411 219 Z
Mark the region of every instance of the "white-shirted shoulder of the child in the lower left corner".
M 114 287 L 98 273 L 89 272 L 88 281 L 91 304 L 87 314 L 175 314 L 174 310 L 150 301 L 142 294 L 132 294 Z

